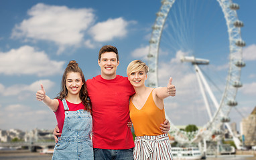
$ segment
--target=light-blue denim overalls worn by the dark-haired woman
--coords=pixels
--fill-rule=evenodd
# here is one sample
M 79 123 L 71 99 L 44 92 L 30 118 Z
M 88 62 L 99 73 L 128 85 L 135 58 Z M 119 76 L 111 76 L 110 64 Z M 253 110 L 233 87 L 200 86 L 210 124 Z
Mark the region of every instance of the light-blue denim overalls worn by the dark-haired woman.
M 54 147 L 52 159 L 93 159 L 92 116 L 83 109 L 68 111 L 66 99 L 62 99 L 65 120 L 61 137 Z

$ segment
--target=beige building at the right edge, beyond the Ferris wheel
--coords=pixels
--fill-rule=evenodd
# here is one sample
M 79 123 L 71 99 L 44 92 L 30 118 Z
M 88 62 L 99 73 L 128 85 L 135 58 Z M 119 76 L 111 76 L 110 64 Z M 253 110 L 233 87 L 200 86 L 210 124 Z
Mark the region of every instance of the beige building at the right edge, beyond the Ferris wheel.
M 256 107 L 251 114 L 241 122 L 241 135 L 243 144 L 247 147 L 256 145 Z

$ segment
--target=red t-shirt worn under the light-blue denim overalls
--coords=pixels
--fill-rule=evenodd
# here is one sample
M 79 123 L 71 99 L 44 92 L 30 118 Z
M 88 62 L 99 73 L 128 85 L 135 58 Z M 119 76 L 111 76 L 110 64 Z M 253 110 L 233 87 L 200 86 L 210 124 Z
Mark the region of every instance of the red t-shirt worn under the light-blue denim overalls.
M 58 99 L 58 101 L 59 101 L 59 107 L 58 107 L 57 111 L 54 113 L 56 115 L 60 133 L 62 133 L 64 120 L 65 120 L 65 111 L 64 111 L 64 106 L 63 106 L 62 100 Z M 82 104 L 82 102 L 79 104 L 74 104 L 74 103 L 70 103 L 69 101 L 66 100 L 66 103 L 68 105 L 69 111 L 77 111 L 79 109 L 84 109 L 84 105 Z

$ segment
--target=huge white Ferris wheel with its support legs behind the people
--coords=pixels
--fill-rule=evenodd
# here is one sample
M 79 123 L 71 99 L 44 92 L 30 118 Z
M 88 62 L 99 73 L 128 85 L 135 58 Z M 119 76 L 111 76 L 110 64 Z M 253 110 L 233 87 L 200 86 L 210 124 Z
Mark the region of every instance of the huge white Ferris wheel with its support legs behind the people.
M 176 0 L 176 1 L 186 1 L 186 0 Z M 196 1 L 196 0 L 194 0 Z M 171 129 L 170 132 L 172 135 L 174 135 L 176 141 L 182 142 L 182 143 L 190 143 L 194 141 L 200 141 L 202 140 L 202 137 L 204 137 L 207 140 L 212 139 L 212 135 L 218 135 L 221 133 L 220 131 L 220 125 L 225 123 L 227 129 L 233 134 L 231 131 L 231 127 L 229 126 L 229 113 L 232 109 L 232 107 L 235 107 L 237 105 L 237 101 L 235 101 L 236 95 L 237 95 L 237 89 L 239 87 L 242 87 L 242 83 L 240 81 L 241 77 L 241 68 L 245 66 L 245 63 L 242 59 L 242 48 L 245 47 L 245 42 L 241 38 L 241 27 L 243 27 L 243 22 L 239 21 L 237 17 L 237 9 L 239 9 L 239 5 L 236 3 L 233 3 L 231 0 L 216 0 L 218 2 L 218 5 L 220 6 L 220 9 L 225 17 L 225 22 L 227 25 L 227 32 L 228 37 L 227 40 L 229 41 L 229 62 L 228 62 L 228 71 L 227 71 L 227 78 L 225 82 L 225 88 L 222 91 L 222 96 L 220 97 L 220 101 L 218 102 L 216 98 L 214 97 L 214 93 L 212 89 L 210 89 L 208 83 L 206 82 L 204 75 L 202 74 L 202 71 L 200 69 L 200 65 L 208 65 L 209 60 L 208 59 L 200 59 L 200 57 L 196 57 L 196 54 L 192 54 L 192 56 L 182 56 L 180 57 L 180 61 L 191 63 L 192 66 L 194 66 L 194 71 L 196 73 L 196 77 L 198 79 L 199 86 L 204 86 L 207 91 L 203 91 L 201 89 L 201 93 L 204 97 L 204 104 L 207 107 L 208 101 L 206 99 L 205 92 L 208 93 L 208 97 L 210 97 L 213 105 L 216 107 L 216 110 L 214 113 L 210 113 L 210 109 L 207 107 L 208 115 L 210 117 L 208 123 L 204 124 L 202 129 L 200 129 L 197 132 L 193 133 L 182 133 L 175 125 L 171 122 Z M 164 30 L 167 30 L 168 27 L 174 27 L 172 24 L 167 26 L 166 21 L 168 17 L 170 16 L 170 11 L 172 11 L 172 7 L 174 5 L 175 0 L 163 0 L 162 6 L 159 9 L 159 12 L 156 14 L 157 17 L 155 19 L 155 24 L 153 25 L 152 33 L 151 33 L 151 39 L 149 41 L 149 53 L 147 55 L 148 58 L 148 65 L 149 65 L 149 73 L 148 73 L 148 86 L 149 87 L 158 87 L 159 85 L 159 71 L 158 67 L 159 62 L 159 51 L 160 48 L 160 42 L 163 40 L 163 33 Z M 190 1 L 192 3 L 192 1 Z M 200 2 L 199 2 L 200 3 Z M 184 9 L 185 11 L 188 10 L 188 6 Z M 190 16 L 190 15 L 189 15 Z M 191 15 L 192 16 L 192 15 Z M 183 19 L 186 17 L 186 15 L 176 15 L 172 17 L 176 22 L 180 19 Z M 184 23 L 182 23 L 184 25 Z M 184 28 L 185 30 L 188 30 L 188 27 L 184 26 L 178 26 L 178 29 Z M 190 25 L 188 25 L 190 26 Z M 209 32 L 209 31 L 208 31 Z M 166 32 L 165 32 L 166 33 Z M 179 33 L 179 31 L 174 31 L 170 34 L 179 34 L 178 37 L 184 36 L 184 33 Z M 168 33 L 166 33 L 168 34 Z M 172 36 L 175 40 L 175 37 Z M 186 37 L 186 36 L 185 36 Z M 183 39 L 183 38 L 182 38 Z M 184 41 L 184 40 L 182 40 Z M 175 41 L 174 41 L 175 43 Z M 181 46 L 183 44 L 180 44 Z M 201 54 L 203 55 L 203 54 Z M 172 65 L 172 64 L 170 64 Z M 175 77 L 174 77 L 175 78 Z M 177 91 L 179 91 L 179 88 L 177 88 Z M 176 94 L 176 96 L 179 93 Z M 233 139 L 235 141 L 235 144 L 237 145 L 237 148 L 239 148 L 239 139 L 233 135 Z

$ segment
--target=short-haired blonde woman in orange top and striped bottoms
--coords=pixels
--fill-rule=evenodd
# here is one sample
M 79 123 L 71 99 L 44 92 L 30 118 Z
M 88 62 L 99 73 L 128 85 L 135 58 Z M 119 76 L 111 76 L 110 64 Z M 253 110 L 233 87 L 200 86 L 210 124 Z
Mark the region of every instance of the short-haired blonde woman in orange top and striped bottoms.
M 167 87 L 151 88 L 145 86 L 149 68 L 140 60 L 129 63 L 128 79 L 135 89 L 129 102 L 131 121 L 135 130 L 133 157 L 145 160 L 172 159 L 171 145 L 167 134 L 159 125 L 166 119 L 164 99 L 176 95 L 172 78 Z

